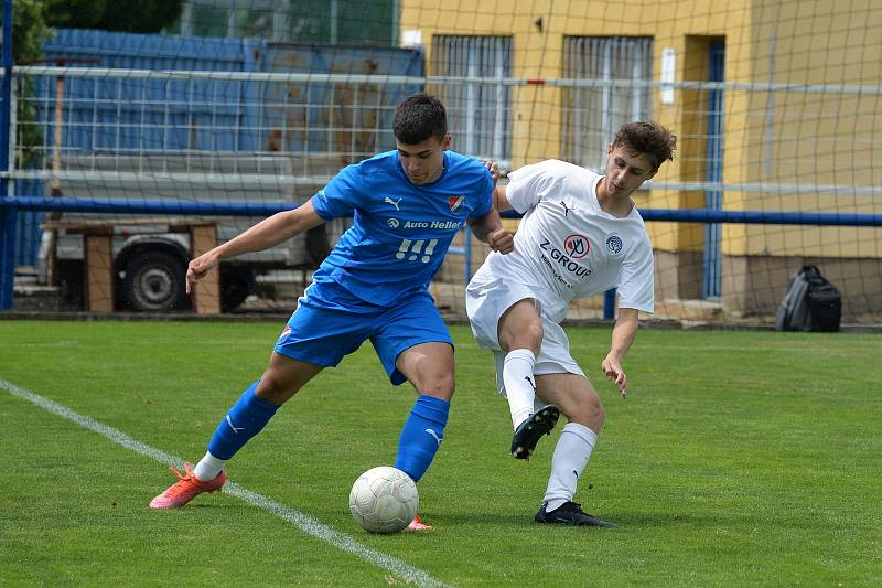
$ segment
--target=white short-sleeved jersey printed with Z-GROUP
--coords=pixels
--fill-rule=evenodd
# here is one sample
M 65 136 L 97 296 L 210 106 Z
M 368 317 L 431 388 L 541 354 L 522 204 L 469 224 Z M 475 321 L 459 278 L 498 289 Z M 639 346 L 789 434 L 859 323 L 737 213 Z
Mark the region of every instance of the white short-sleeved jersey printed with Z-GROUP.
M 619 307 L 653 312 L 653 248 L 636 207 L 617 218 L 600 207 L 601 175 L 559 160 L 509 174 L 506 195 L 524 214 L 515 250 L 491 253 L 469 288 L 514 280 L 555 322 L 570 300 L 617 288 Z

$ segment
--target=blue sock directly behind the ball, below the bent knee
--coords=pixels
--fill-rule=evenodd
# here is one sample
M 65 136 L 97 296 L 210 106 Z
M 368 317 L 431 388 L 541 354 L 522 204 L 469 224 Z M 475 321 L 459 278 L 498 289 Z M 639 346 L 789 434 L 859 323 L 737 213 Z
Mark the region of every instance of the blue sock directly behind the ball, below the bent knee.
M 395 467 L 408 474 L 415 482 L 422 478 L 434 459 L 444 425 L 448 424 L 450 403 L 432 396 L 420 396 L 410 410 L 410 416 L 398 439 L 398 458 Z

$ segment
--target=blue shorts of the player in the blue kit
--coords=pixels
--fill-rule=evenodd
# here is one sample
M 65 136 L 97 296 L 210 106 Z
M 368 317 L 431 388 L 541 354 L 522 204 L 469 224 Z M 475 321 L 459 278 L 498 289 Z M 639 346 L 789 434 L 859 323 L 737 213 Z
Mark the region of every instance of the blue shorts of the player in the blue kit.
M 407 381 L 395 367 L 402 351 L 420 343 L 453 346 L 428 291 L 417 291 L 394 307 L 379 307 L 336 282 L 323 281 L 310 285 L 298 301 L 288 327 L 276 342 L 276 353 L 332 367 L 368 339 L 396 386 Z

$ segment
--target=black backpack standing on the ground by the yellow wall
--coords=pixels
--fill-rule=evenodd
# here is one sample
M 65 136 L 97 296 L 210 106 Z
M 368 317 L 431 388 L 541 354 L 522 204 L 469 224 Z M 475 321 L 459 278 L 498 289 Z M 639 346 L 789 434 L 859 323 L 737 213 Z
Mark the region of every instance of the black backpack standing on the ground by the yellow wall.
M 790 276 L 787 291 L 775 313 L 778 331 L 838 331 L 842 297 L 815 266 Z

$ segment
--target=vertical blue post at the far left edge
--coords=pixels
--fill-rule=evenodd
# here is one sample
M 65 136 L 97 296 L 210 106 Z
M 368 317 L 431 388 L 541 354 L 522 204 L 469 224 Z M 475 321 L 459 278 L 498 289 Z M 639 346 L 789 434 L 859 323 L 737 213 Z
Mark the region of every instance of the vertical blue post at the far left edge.
M 9 170 L 9 125 L 12 108 L 12 0 L 3 0 L 3 82 L 0 86 L 0 172 Z M 0 179 L 0 199 L 9 195 L 9 179 Z M 14 207 L 0 209 L 0 310 L 12 308 L 15 279 Z

